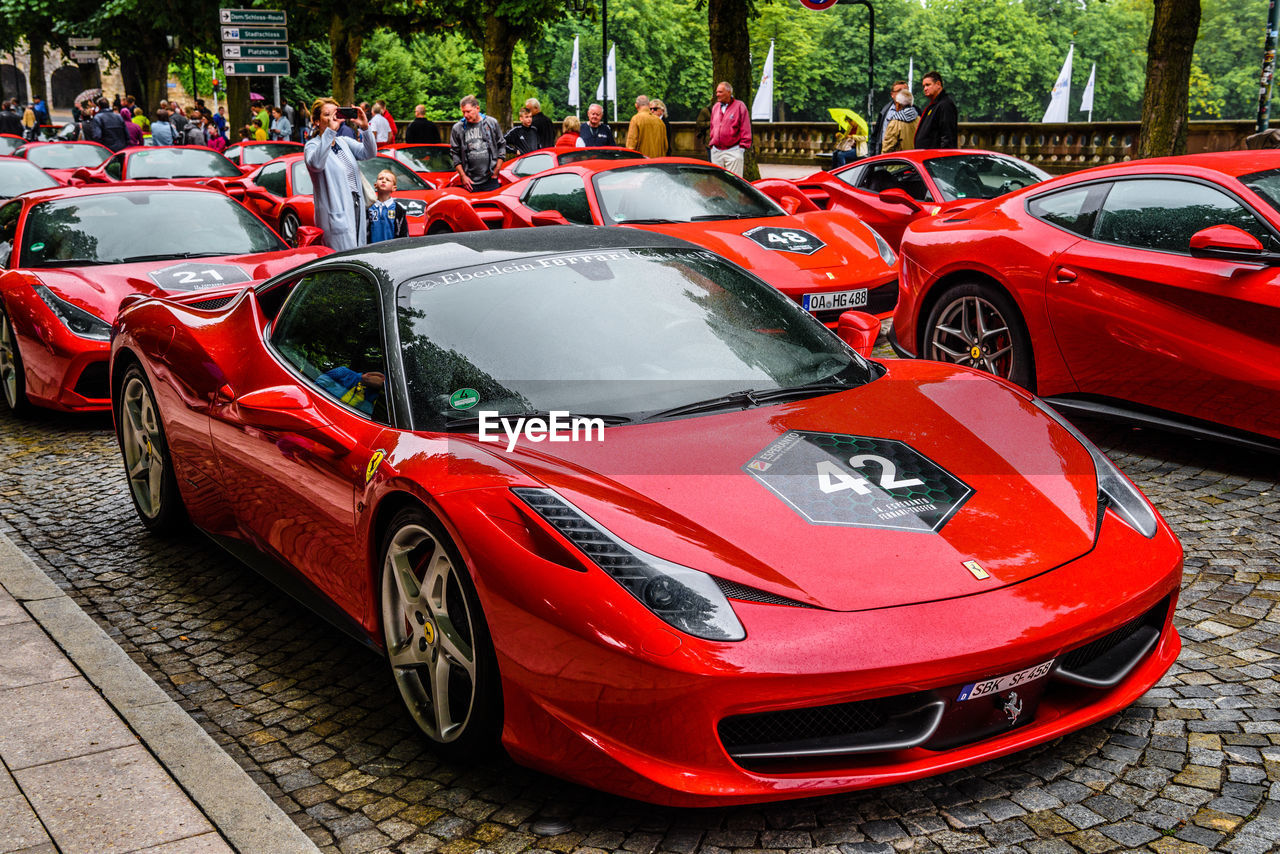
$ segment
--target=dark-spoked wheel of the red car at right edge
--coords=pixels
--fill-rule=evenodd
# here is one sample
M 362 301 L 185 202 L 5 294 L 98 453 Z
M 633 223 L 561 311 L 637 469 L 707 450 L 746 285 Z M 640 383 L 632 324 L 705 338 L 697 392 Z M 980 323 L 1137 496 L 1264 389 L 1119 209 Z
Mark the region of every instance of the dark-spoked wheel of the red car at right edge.
M 1034 391 L 1032 342 L 1018 306 L 980 282 L 943 293 L 924 324 L 920 355 L 984 370 Z

